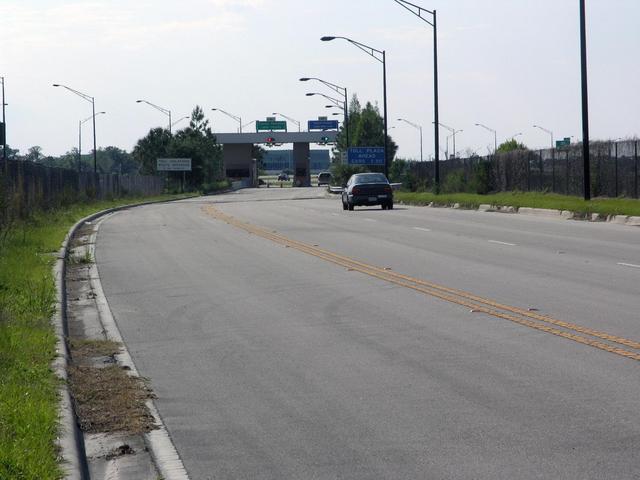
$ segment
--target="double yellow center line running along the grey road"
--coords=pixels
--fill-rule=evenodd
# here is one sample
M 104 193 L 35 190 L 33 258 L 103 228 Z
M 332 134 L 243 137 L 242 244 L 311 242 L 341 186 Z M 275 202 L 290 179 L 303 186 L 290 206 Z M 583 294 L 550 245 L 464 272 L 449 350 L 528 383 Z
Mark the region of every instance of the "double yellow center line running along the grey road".
M 552 335 L 567 338 L 569 340 L 573 340 L 574 342 L 582 343 L 583 345 L 589 345 L 590 347 L 598 348 L 610 353 L 615 353 L 616 355 L 621 355 L 623 357 L 640 361 L 640 353 L 638 352 L 640 351 L 640 342 L 629 340 L 623 337 L 618 337 L 615 335 L 610 335 L 608 333 L 593 330 L 591 328 L 582 327 L 574 323 L 557 320 L 555 318 L 546 315 L 540 315 L 529 310 L 523 310 L 518 307 L 503 305 L 493 300 L 479 297 L 462 290 L 445 287 L 418 278 L 413 278 L 408 275 L 396 273 L 388 268 L 369 265 L 346 257 L 344 255 L 323 250 L 317 245 L 310 245 L 304 242 L 293 240 L 291 238 L 287 238 L 283 235 L 278 234 L 276 231 L 267 230 L 246 222 L 242 222 L 230 215 L 222 213 L 214 206 L 209 205 L 203 208 L 207 214 L 218 220 L 222 220 L 229 225 L 233 225 L 235 227 L 241 228 L 248 233 L 258 235 L 262 238 L 266 238 L 273 242 L 279 243 L 287 248 L 294 248 L 300 252 L 304 252 L 306 254 L 313 255 L 314 257 L 321 258 L 336 265 L 340 265 L 342 267 L 345 267 L 349 271 L 360 272 L 365 275 L 378 278 L 385 282 L 393 283 L 405 288 L 410 288 L 417 292 L 440 298 L 457 305 L 462 305 L 469 308 L 472 312 L 485 313 L 496 318 L 502 318 L 519 325 L 524 325 L 526 327 L 534 328 L 536 330 L 550 333 Z M 621 348 L 620 346 L 624 346 L 627 348 Z

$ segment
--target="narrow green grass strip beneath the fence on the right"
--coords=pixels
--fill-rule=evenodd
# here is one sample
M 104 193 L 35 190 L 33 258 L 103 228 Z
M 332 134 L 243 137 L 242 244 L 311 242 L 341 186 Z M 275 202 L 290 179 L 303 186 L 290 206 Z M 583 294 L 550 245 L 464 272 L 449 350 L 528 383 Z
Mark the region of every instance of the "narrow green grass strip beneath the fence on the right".
M 451 193 L 434 195 L 428 192 L 396 192 L 396 201 L 412 205 L 453 205 L 459 203 L 465 208 L 477 208 L 480 204 L 513 207 L 550 208 L 569 210 L 581 214 L 640 216 L 640 200 L 628 198 L 596 198 L 585 202 L 580 197 L 569 197 L 551 193 L 506 192 L 492 195 L 471 193 Z

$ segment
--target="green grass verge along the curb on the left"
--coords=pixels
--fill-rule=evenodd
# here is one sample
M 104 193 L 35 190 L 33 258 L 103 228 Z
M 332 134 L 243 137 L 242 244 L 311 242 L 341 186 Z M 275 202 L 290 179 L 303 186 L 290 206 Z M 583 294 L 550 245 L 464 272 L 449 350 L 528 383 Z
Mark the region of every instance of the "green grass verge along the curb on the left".
M 0 244 L 0 479 L 60 478 L 58 380 L 51 369 L 55 253 L 80 218 L 117 205 L 180 196 L 122 199 L 37 213 Z

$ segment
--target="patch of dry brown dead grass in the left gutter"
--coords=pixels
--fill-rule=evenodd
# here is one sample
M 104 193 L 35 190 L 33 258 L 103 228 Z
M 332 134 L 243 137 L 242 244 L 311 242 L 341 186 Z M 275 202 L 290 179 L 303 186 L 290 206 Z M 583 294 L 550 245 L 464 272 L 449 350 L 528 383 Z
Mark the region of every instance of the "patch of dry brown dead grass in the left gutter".
M 80 428 L 87 433 L 144 433 L 156 427 L 146 407 L 146 381 L 117 365 L 71 366 L 69 383 Z

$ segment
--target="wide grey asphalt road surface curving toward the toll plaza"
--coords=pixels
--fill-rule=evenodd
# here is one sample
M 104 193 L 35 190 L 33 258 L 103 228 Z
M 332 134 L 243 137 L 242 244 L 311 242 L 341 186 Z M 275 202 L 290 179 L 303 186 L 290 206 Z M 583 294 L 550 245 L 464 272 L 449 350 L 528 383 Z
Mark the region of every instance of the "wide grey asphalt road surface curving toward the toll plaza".
M 611 341 L 640 341 L 640 229 L 323 195 L 102 224 L 105 293 L 191 478 L 640 478 L 640 349 Z

